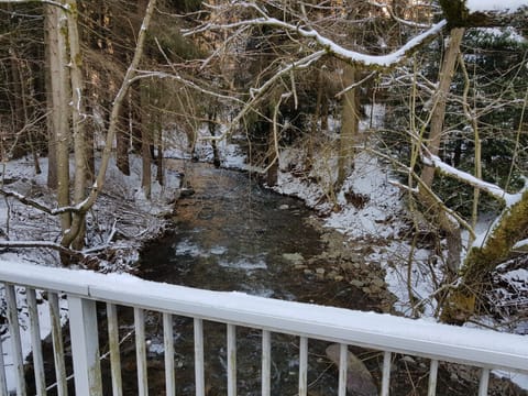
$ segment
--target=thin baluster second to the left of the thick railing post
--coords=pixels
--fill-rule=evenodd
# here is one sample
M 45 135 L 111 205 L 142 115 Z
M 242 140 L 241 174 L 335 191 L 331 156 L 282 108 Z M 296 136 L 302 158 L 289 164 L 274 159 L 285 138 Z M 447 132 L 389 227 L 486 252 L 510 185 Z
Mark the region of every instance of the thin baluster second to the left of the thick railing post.
M 46 395 L 46 377 L 44 375 L 44 360 L 42 358 L 41 326 L 38 308 L 36 307 L 35 289 L 25 288 L 28 311 L 30 314 L 31 346 L 33 352 L 33 370 L 35 373 L 35 387 L 37 395 Z

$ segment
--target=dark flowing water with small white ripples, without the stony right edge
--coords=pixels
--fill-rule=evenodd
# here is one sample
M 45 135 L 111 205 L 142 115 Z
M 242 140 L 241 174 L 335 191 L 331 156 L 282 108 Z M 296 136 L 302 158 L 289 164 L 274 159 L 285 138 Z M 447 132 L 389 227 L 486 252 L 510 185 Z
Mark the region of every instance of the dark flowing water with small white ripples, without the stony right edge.
M 319 231 L 306 221 L 312 212 L 301 201 L 260 187 L 244 173 L 208 164 L 191 164 L 185 172 L 195 194 L 178 201 L 175 233 L 144 252 L 142 277 L 212 290 L 367 308 L 369 300 L 346 283 L 316 279 L 316 275 L 306 276 L 295 268 L 324 249 Z M 152 326 L 151 353 L 160 353 L 163 359 L 163 334 L 155 332 L 156 326 Z M 175 320 L 177 382 L 180 393 L 189 395 L 194 392 L 191 326 L 187 318 Z M 209 394 L 226 394 L 226 327 L 206 322 L 205 342 Z M 297 393 L 297 345 L 294 337 L 273 336 L 273 395 Z M 337 394 L 337 371 L 323 356 L 327 345 L 310 341 L 311 395 Z M 260 394 L 260 364 L 261 332 L 240 328 L 241 395 Z

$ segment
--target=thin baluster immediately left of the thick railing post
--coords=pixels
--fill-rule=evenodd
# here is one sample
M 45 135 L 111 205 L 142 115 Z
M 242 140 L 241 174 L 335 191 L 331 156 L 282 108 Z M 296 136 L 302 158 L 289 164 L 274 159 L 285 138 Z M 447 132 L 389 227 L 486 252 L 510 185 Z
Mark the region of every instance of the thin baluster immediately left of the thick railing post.
M 68 385 L 66 380 L 66 364 L 64 363 L 64 341 L 58 295 L 50 292 L 47 294 L 47 300 L 50 302 L 50 319 L 52 322 L 53 360 L 55 362 L 55 377 L 57 378 L 57 396 L 67 396 Z

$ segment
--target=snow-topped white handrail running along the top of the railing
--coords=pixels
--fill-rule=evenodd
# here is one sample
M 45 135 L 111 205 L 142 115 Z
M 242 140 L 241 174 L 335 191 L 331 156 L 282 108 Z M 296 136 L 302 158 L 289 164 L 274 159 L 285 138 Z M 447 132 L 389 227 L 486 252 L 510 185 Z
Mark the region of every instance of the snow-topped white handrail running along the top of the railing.
M 211 292 L 140 279 L 0 261 L 0 282 L 223 323 L 382 351 L 528 372 L 528 342 L 516 334 L 430 320 Z

